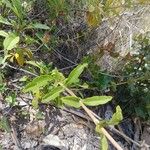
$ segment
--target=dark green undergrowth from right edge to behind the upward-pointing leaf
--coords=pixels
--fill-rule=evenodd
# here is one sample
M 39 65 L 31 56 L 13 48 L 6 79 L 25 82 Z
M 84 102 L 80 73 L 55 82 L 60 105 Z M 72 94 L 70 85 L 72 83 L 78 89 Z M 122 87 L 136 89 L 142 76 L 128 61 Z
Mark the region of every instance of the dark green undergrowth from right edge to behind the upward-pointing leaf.
M 136 47 L 135 47 L 136 46 Z M 133 45 L 136 51 L 128 53 L 124 58 L 119 75 L 101 71 L 95 64 L 95 57 L 88 56 L 84 62 L 89 63 L 92 77 L 88 84 L 102 93 L 112 93 L 114 100 L 121 106 L 123 113 L 150 119 L 150 40 L 147 35 L 139 35 Z M 128 108 L 128 109 L 127 109 Z

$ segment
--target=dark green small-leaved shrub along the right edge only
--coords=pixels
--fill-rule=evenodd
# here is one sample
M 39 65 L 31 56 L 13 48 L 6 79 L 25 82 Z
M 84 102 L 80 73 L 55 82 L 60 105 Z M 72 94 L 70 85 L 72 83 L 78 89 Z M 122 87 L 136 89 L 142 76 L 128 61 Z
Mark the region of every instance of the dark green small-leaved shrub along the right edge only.
M 116 97 L 124 112 L 150 119 L 150 41 L 140 35 L 136 38 L 138 49 L 123 69 L 124 84 L 117 87 Z

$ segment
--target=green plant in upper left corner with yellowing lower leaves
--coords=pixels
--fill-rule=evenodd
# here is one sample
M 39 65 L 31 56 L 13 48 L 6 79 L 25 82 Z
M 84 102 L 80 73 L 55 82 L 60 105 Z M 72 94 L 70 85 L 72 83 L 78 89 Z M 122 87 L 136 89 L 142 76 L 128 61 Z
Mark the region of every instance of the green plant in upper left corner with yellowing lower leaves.
M 0 15 L 0 26 L 3 30 L 0 30 L 0 36 L 3 39 L 3 64 L 9 60 L 23 66 L 26 60 L 32 59 L 30 45 L 38 43 L 26 33 L 29 31 L 32 33 L 32 30 L 37 29 L 49 30 L 50 27 L 38 21 L 31 22 L 28 18 L 28 9 L 22 0 L 1 0 L 1 3 L 3 11 Z

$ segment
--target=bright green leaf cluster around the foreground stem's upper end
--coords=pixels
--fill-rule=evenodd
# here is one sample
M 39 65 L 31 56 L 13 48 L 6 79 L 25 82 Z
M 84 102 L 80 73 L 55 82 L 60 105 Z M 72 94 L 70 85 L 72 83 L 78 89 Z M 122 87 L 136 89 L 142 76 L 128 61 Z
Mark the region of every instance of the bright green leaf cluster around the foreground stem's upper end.
M 75 108 L 81 107 L 80 101 L 87 106 L 103 105 L 111 101 L 111 96 L 81 98 L 75 95 L 64 95 L 68 92 L 69 88 L 76 85 L 76 83 L 79 83 L 79 76 L 86 67 L 86 63 L 79 64 L 71 71 L 67 78 L 65 78 L 57 69 L 54 69 L 49 75 L 41 75 L 34 78 L 25 86 L 23 92 L 32 92 L 36 96 L 36 99 L 33 101 L 36 106 L 37 103 L 35 101 L 38 101 L 38 99 L 40 99 L 42 103 L 50 103 L 59 99 L 63 104 Z

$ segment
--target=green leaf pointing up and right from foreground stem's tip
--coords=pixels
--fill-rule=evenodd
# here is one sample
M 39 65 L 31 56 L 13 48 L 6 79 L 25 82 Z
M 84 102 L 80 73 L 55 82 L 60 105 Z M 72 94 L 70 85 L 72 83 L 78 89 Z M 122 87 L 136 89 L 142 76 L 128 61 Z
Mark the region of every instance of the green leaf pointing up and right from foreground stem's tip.
M 71 71 L 71 73 L 69 74 L 69 76 L 66 80 L 66 84 L 70 85 L 72 83 L 78 82 L 78 78 L 79 78 L 80 74 L 83 72 L 84 68 L 87 66 L 88 66 L 87 63 L 80 64 L 75 69 L 73 69 L 73 71 Z

